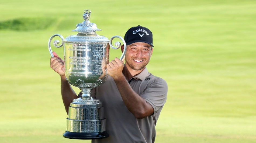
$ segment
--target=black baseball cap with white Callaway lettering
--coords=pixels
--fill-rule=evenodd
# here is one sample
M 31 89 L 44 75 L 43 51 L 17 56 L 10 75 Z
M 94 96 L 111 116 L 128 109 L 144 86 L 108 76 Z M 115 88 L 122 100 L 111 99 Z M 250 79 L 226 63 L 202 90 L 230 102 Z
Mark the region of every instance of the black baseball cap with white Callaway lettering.
M 132 27 L 124 35 L 124 41 L 126 45 L 130 45 L 135 42 L 144 42 L 153 46 L 153 34 L 152 32 L 143 26 Z

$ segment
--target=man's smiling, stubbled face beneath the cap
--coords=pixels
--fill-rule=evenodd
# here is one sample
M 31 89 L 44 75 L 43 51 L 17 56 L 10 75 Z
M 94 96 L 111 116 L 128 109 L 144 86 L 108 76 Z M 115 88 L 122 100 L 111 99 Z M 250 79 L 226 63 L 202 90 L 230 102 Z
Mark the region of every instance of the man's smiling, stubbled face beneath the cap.
M 132 43 L 126 47 L 125 62 L 134 70 L 144 69 L 150 60 L 152 52 L 153 48 L 148 43 Z

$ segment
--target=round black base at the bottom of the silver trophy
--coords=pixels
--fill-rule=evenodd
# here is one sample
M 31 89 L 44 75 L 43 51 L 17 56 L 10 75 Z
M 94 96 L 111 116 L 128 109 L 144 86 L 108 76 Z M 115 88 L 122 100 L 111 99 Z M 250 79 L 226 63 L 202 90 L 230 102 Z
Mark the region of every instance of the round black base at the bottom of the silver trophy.
M 64 138 L 78 139 L 78 140 L 101 139 L 101 138 L 107 138 L 108 136 L 109 135 L 106 131 L 98 132 L 98 133 L 76 133 L 76 132 L 65 131 L 65 133 L 63 134 Z

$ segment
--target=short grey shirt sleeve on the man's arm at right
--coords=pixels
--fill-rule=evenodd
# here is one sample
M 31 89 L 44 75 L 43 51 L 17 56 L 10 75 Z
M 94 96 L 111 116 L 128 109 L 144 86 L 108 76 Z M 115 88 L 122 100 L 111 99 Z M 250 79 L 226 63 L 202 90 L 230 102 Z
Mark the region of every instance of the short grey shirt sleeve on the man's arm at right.
M 151 79 L 152 80 L 152 79 Z M 164 106 L 167 99 L 168 85 L 164 79 L 156 78 L 149 83 L 140 96 L 154 109 L 154 113 Z

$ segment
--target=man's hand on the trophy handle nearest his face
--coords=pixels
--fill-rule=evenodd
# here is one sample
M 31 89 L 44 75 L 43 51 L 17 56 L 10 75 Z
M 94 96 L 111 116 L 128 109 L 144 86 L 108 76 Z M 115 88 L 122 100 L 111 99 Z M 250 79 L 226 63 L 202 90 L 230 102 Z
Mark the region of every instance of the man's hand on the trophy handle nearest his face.
M 113 79 L 118 79 L 123 76 L 124 58 L 121 61 L 119 58 L 110 61 L 107 64 L 108 74 L 112 76 Z

